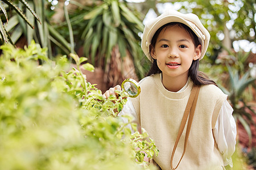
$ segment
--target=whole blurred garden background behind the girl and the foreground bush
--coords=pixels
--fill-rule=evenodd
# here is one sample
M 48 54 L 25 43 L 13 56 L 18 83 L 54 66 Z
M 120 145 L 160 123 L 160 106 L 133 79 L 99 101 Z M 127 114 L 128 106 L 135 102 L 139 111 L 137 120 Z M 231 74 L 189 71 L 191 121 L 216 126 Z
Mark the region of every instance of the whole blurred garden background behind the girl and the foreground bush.
M 140 46 L 144 22 L 167 8 L 197 14 L 211 36 L 200 70 L 229 95 L 237 122 L 237 150 L 229 169 L 256 169 L 255 0 L 2 2 L 1 45 L 24 48 L 35 40 L 52 59 L 70 53 L 87 57 L 96 69 L 84 74 L 102 92 L 147 74 L 150 62 Z

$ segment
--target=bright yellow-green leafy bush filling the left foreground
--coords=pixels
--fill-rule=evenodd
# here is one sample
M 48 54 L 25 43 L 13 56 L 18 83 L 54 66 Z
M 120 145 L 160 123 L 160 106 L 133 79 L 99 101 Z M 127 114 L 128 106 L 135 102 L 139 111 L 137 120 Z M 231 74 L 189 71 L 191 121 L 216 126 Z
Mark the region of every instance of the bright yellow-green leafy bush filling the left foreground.
M 115 112 L 125 94 L 102 97 L 81 72 L 86 58 L 71 54 L 77 69 L 69 70 L 67 57 L 51 61 L 35 42 L 24 50 L 1 49 L 0 169 L 154 168 L 142 153 L 157 155 L 154 141 Z

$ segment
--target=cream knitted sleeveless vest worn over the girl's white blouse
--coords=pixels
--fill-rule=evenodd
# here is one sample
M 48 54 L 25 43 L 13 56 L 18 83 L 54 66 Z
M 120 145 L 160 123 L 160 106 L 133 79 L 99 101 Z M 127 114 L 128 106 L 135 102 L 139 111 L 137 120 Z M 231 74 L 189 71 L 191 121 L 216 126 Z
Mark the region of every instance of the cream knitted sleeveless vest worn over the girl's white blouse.
M 131 101 L 142 128 L 158 147 L 159 156 L 154 157 L 155 162 L 163 170 L 170 170 L 171 152 L 193 83 L 191 81 L 183 92 L 170 92 L 164 88 L 160 75 L 155 74 L 142 79 L 139 85 L 141 94 Z M 187 150 L 177 169 L 222 169 L 223 160 L 214 142 L 212 128 L 226 97 L 214 85 L 201 86 Z M 186 126 L 174 155 L 174 167 L 183 152 Z

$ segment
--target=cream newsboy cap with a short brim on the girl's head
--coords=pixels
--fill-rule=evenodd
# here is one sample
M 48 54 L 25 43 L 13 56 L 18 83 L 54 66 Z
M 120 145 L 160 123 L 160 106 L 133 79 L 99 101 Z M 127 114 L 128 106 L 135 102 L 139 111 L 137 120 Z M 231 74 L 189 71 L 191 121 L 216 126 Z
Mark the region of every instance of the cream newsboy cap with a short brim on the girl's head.
M 155 32 L 164 24 L 172 22 L 183 23 L 191 28 L 193 32 L 195 32 L 202 45 L 201 57 L 199 58 L 199 60 L 202 59 L 207 52 L 207 48 L 209 45 L 209 32 L 206 28 L 204 28 L 204 25 L 200 22 L 197 15 L 192 13 L 182 14 L 175 10 L 166 10 L 162 15 L 159 15 L 157 18 L 154 18 L 145 24 L 141 47 L 147 58 L 150 59 L 150 61 L 152 60 L 149 53 L 149 46 Z

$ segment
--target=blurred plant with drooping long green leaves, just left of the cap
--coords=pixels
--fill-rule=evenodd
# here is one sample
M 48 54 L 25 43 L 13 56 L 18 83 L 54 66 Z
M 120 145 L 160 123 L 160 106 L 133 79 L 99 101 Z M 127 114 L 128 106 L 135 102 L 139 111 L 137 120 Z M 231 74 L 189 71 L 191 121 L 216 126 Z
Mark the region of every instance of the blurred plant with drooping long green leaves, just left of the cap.
M 118 0 L 97 1 L 92 7 L 70 3 L 78 7 L 70 14 L 77 46 L 83 47 L 83 54 L 88 56 L 89 62 L 108 72 L 117 48 L 121 58 L 132 56 L 138 75 L 144 77 L 147 70 L 142 66 L 144 54 L 138 35 L 143 32 L 141 15 Z

